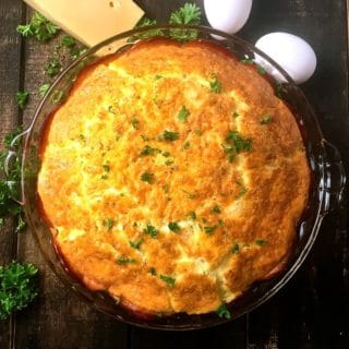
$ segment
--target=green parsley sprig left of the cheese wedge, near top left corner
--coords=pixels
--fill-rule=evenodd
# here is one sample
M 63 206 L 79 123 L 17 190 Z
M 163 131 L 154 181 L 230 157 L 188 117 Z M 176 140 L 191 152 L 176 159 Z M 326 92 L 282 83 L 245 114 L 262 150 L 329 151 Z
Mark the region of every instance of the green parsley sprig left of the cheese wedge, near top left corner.
M 59 27 L 48 21 L 43 14 L 34 12 L 31 22 L 19 25 L 16 31 L 23 36 L 34 36 L 39 41 L 46 41 L 56 36 Z

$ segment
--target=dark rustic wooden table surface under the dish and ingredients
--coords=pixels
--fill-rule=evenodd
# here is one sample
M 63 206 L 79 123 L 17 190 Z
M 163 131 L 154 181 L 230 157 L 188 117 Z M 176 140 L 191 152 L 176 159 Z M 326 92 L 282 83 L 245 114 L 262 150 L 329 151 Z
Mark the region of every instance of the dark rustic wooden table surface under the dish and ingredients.
M 148 16 L 164 21 L 185 1 L 137 1 Z M 203 7 L 203 1 L 195 1 Z M 219 5 L 219 0 L 217 0 Z M 305 38 L 318 65 L 301 87 L 325 137 L 341 153 L 349 173 L 348 3 L 345 0 L 254 1 L 238 34 L 254 43 L 274 31 Z M 0 0 L 1 135 L 28 125 L 46 82 L 44 65 L 59 38 L 48 44 L 22 38 L 16 25 L 32 11 L 20 0 Z M 19 110 L 17 91 L 32 93 Z M 344 207 L 345 204 L 344 204 Z M 100 314 L 57 279 L 29 231 L 16 234 L 13 222 L 0 230 L 0 265 L 32 262 L 40 270 L 40 294 L 31 306 L 0 322 L 0 348 L 349 348 L 348 209 L 328 215 L 303 266 L 272 300 L 241 318 L 215 328 L 166 333 L 122 324 Z

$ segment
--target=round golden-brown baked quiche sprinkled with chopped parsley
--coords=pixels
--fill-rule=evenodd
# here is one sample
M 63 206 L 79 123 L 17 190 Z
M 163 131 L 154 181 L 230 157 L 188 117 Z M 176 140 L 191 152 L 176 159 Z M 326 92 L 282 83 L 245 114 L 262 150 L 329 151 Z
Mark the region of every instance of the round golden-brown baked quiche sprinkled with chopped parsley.
M 85 69 L 41 143 L 38 193 L 70 268 L 145 313 L 215 311 L 285 262 L 310 171 L 252 65 L 137 44 Z

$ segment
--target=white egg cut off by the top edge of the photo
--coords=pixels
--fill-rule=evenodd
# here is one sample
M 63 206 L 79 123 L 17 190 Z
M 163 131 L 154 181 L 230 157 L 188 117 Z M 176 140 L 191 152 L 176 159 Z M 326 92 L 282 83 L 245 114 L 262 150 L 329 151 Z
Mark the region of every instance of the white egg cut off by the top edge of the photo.
M 212 27 L 234 34 L 246 23 L 252 0 L 205 0 L 204 7 Z

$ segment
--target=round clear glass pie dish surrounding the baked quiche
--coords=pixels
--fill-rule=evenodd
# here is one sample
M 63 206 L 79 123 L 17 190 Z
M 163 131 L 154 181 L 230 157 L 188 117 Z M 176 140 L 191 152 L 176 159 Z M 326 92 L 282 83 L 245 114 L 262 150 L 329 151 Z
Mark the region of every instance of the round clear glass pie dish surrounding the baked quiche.
M 214 35 L 214 36 L 213 36 Z M 135 43 L 152 36 L 202 39 L 214 43 L 228 50 L 238 59 L 253 59 L 255 55 L 268 61 L 284 77 L 279 94 L 292 110 L 303 136 L 306 156 L 312 172 L 312 184 L 308 207 L 298 225 L 298 241 L 287 267 L 274 277 L 257 281 L 240 298 L 228 304 L 231 318 L 221 318 L 216 313 L 202 315 L 176 314 L 163 317 L 145 317 L 116 304 L 104 292 L 88 290 L 70 273 L 55 248 L 49 227 L 43 220 L 37 203 L 37 176 L 40 169 L 39 145 L 45 131 L 45 123 L 64 99 L 74 85 L 77 74 L 98 59 L 116 51 L 123 51 Z M 217 36 L 220 36 L 218 39 Z M 272 77 L 270 83 L 275 83 Z M 198 26 L 156 26 L 136 28 L 117 35 L 93 48 L 75 60 L 51 86 L 37 108 L 31 127 L 21 135 L 25 136 L 22 165 L 22 198 L 27 222 L 37 244 L 52 270 L 71 289 L 77 292 L 94 308 L 133 325 L 158 329 L 195 329 L 232 321 L 261 305 L 273 297 L 297 272 L 309 254 L 318 233 L 322 219 L 336 208 L 341 200 L 346 183 L 344 166 L 338 151 L 324 140 L 316 118 L 301 89 L 288 74 L 273 60 L 240 38 L 225 33 Z M 15 140 L 16 141 L 16 140 Z M 14 142 L 15 142 L 14 141 Z M 14 153 L 10 153 L 10 157 Z M 8 166 L 10 165 L 10 157 Z

